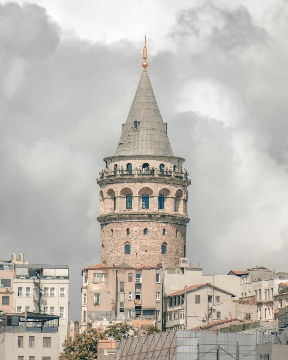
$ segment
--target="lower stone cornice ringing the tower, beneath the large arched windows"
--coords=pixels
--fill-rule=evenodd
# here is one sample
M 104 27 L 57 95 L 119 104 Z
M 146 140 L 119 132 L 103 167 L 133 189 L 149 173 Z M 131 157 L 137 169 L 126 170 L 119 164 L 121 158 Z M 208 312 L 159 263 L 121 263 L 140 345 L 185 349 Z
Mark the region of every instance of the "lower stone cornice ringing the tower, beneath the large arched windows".
M 100 215 L 97 221 L 101 225 L 109 223 L 131 222 L 131 221 L 152 221 L 160 223 L 173 223 L 186 225 L 190 218 L 180 214 L 156 213 L 156 212 L 117 212 Z

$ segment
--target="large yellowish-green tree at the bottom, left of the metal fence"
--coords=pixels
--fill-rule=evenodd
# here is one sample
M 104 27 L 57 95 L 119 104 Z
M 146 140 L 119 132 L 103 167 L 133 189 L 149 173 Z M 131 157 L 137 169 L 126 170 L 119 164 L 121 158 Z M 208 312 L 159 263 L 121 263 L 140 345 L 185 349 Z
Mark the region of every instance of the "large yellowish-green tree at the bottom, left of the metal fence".
M 65 340 L 64 351 L 59 360 L 94 360 L 97 358 L 97 340 L 104 338 L 103 334 L 89 330 L 78 334 L 73 341 Z

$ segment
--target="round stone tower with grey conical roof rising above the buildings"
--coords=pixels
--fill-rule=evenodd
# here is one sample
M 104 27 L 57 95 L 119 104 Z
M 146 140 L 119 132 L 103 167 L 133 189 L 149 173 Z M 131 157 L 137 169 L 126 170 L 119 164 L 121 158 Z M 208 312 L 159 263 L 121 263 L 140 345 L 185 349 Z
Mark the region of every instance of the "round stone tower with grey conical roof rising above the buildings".
M 115 155 L 104 158 L 106 169 L 97 179 L 101 262 L 119 265 L 125 257 L 133 267 L 164 262 L 176 268 L 186 256 L 191 180 L 185 159 L 173 154 L 146 62 L 143 67 Z

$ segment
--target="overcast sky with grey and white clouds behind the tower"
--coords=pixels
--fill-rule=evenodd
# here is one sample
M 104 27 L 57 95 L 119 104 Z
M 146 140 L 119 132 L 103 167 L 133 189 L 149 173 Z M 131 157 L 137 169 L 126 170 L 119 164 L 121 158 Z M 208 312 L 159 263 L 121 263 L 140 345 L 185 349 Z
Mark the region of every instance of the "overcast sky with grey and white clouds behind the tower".
M 96 178 L 146 34 L 156 99 L 192 179 L 190 261 L 204 273 L 288 271 L 287 33 L 286 0 L 1 4 L 0 259 L 69 265 L 80 320 L 81 269 L 100 261 Z

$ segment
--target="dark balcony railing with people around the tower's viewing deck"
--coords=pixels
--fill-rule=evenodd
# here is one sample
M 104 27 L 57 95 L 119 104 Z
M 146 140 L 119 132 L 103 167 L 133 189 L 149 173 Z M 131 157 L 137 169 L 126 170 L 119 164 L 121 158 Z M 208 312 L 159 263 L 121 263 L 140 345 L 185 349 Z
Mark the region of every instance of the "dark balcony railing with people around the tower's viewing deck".
M 186 180 L 191 184 L 191 180 L 188 178 L 189 173 L 186 171 L 175 171 L 175 170 L 165 170 L 165 169 L 143 169 L 143 170 L 114 170 L 114 171 L 100 171 L 100 178 L 97 179 L 103 180 L 107 178 L 121 178 L 121 177 L 163 177 L 163 178 L 173 178 L 173 179 L 182 179 Z

